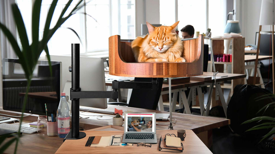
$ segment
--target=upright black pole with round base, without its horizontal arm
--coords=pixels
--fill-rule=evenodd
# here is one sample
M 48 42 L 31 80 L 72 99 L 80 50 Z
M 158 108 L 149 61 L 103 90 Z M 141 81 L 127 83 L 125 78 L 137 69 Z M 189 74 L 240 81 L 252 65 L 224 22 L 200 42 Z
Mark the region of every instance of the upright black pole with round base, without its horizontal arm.
M 79 44 L 72 44 L 72 88 L 71 92 L 80 92 L 80 52 Z M 79 98 L 72 100 L 72 131 L 64 138 L 66 139 L 81 139 L 86 136 L 86 133 L 79 132 Z

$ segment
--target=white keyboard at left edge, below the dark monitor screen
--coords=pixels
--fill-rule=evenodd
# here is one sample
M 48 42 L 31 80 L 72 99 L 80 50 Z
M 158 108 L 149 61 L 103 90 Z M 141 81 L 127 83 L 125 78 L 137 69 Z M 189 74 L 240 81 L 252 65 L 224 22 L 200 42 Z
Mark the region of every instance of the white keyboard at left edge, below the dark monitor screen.
M 13 130 L 13 131 L 18 132 L 19 125 L 2 123 L 2 124 L 0 124 L 0 128 L 1 129 L 5 129 L 5 130 Z M 41 129 L 39 129 L 39 130 L 41 130 Z M 36 133 L 37 132 L 37 128 L 21 126 L 20 132 L 27 133 L 27 134 L 32 134 L 32 133 Z

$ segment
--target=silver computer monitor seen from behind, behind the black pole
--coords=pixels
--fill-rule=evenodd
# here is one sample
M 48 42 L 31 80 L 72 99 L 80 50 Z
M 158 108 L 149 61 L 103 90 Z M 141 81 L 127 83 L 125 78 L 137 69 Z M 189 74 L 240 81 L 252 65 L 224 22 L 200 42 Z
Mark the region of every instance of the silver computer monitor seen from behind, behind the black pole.
M 54 56 L 51 60 L 60 61 L 62 64 L 62 91 L 69 96 L 69 108 L 71 108 L 70 88 L 72 87 L 72 73 L 69 67 L 72 65 L 72 56 Z M 103 58 L 80 57 L 80 88 L 81 91 L 106 91 Z M 79 99 L 80 106 L 107 108 L 106 98 Z

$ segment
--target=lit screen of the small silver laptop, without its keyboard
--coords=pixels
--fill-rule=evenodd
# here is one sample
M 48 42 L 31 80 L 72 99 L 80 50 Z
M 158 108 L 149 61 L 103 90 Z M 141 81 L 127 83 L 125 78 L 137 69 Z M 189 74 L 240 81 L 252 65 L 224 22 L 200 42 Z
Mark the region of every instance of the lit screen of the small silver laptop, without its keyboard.
M 125 132 L 155 133 L 155 119 L 155 113 L 125 113 Z

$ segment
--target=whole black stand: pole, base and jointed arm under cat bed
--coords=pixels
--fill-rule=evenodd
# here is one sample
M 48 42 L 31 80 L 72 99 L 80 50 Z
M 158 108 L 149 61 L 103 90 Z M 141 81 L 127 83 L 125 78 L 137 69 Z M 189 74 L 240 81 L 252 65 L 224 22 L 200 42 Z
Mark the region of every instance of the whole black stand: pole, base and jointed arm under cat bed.
M 117 100 L 117 89 L 152 89 L 158 90 L 158 79 L 152 78 L 152 82 L 125 82 L 113 81 L 113 91 L 81 91 L 79 87 L 80 79 L 80 52 L 79 44 L 72 44 L 72 88 L 70 89 L 70 97 L 72 100 L 72 131 L 64 138 L 66 139 L 81 139 L 86 136 L 86 133 L 79 132 L 79 99 L 80 98 L 112 98 Z

